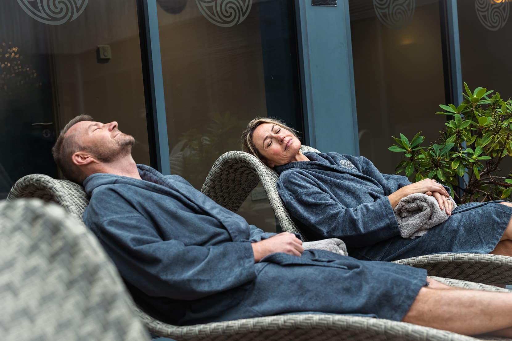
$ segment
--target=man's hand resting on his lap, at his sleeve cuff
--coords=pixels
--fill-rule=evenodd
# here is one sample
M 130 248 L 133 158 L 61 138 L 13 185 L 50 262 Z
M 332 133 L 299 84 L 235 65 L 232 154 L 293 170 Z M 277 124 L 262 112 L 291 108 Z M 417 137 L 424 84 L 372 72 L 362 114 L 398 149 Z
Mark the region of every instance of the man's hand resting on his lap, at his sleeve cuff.
M 252 252 L 254 253 L 254 263 L 258 263 L 265 256 L 275 252 L 301 256 L 304 252 L 304 247 L 302 247 L 302 240 L 295 237 L 294 234 L 283 232 L 268 239 L 252 243 Z

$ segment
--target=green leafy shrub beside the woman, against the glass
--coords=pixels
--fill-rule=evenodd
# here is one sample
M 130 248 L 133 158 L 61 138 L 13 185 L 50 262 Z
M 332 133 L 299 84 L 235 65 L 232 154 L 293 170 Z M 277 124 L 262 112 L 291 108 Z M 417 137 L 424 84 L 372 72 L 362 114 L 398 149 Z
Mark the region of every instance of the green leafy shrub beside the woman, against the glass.
M 508 199 L 512 174 L 504 176 L 499 167 L 512 156 L 512 101 L 483 87 L 471 92 L 464 83 L 464 88 L 459 106 L 439 105 L 443 111 L 436 114 L 449 120 L 436 143 L 422 147 L 421 132 L 411 141 L 403 134 L 393 137 L 396 144 L 388 149 L 403 153 L 396 173 L 442 181 L 460 203 Z

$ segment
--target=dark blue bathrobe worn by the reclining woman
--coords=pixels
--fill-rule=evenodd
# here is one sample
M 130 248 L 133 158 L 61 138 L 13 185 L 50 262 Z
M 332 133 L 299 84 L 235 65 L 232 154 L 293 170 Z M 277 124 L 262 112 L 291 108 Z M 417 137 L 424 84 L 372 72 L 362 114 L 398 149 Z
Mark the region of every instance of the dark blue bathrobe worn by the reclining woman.
M 362 156 L 335 152 L 305 155 L 310 161 L 275 167 L 286 209 L 306 238 L 342 239 L 349 255 L 358 259 L 488 254 L 512 215 L 512 208 L 496 201 L 466 203 L 422 237 L 402 238 L 388 195 L 411 184 L 407 177 L 382 174 Z

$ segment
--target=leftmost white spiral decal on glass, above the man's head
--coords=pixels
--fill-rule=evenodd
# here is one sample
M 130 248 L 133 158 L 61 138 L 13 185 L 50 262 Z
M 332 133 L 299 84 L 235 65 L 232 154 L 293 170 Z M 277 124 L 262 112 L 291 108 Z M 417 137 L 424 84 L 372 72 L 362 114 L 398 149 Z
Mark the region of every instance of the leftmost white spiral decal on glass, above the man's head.
M 86 9 L 89 0 L 17 0 L 19 6 L 39 22 L 61 25 L 73 21 Z

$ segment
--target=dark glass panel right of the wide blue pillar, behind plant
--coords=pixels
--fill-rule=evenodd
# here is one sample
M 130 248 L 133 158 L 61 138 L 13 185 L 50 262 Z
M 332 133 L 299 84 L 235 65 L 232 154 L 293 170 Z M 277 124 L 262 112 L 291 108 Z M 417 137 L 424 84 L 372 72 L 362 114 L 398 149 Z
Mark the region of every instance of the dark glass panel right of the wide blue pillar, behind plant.
M 445 101 L 437 1 L 351 0 L 360 154 L 383 173 L 395 173 L 401 155 L 388 150 L 400 133 L 438 138 Z

